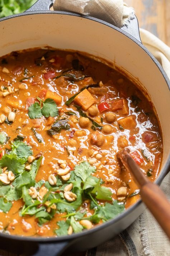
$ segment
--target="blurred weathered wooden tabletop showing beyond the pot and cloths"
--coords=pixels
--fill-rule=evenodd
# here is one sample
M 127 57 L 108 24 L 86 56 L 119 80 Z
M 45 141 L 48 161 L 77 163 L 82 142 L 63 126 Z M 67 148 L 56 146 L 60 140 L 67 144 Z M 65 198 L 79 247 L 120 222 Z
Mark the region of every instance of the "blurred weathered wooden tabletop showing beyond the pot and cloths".
M 139 26 L 150 31 L 170 46 L 170 0 L 124 0 L 135 9 Z M 65 254 L 63 254 L 64 256 Z M 0 251 L 0 256 L 18 256 Z M 67 256 L 85 256 L 74 253 Z

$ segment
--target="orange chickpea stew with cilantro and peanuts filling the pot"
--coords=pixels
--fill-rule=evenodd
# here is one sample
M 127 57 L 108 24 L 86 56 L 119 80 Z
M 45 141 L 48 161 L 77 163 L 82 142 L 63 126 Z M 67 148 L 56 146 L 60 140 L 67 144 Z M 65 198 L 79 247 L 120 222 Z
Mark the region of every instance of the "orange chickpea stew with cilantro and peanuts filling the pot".
M 79 233 L 139 198 L 117 160 L 128 147 L 151 181 L 159 121 L 126 76 L 80 53 L 33 49 L 0 58 L 0 230 Z

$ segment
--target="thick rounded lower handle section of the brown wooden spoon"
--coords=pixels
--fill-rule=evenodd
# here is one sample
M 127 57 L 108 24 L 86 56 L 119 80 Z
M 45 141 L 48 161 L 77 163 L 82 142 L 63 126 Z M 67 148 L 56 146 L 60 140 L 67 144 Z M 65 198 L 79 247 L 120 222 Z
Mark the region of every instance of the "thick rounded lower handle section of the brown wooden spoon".
M 170 202 L 164 193 L 156 184 L 149 182 L 141 187 L 140 195 L 170 239 Z

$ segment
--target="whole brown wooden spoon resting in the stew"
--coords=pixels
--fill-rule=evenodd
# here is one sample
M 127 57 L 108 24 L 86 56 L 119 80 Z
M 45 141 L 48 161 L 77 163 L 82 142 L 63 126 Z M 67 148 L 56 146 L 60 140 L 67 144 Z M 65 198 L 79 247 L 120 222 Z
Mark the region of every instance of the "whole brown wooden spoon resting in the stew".
M 123 149 L 117 153 L 117 158 L 121 160 L 123 166 L 133 176 L 140 188 L 142 201 L 170 239 L 170 202 L 159 186 L 150 182 L 143 174 L 129 152 L 128 148 Z

